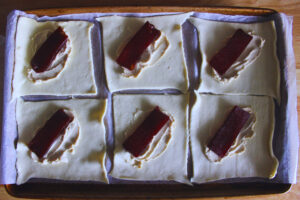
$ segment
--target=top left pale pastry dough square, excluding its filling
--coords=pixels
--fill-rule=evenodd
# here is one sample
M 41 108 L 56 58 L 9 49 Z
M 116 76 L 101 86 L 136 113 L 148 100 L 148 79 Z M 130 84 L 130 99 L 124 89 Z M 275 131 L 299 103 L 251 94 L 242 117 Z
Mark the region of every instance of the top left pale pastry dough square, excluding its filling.
M 35 52 L 35 36 L 62 27 L 70 40 L 71 51 L 62 71 L 53 79 L 33 82 L 28 78 L 30 61 Z M 95 95 L 94 64 L 91 49 L 93 23 L 86 21 L 37 22 L 19 17 L 16 29 L 13 97 L 23 95 Z

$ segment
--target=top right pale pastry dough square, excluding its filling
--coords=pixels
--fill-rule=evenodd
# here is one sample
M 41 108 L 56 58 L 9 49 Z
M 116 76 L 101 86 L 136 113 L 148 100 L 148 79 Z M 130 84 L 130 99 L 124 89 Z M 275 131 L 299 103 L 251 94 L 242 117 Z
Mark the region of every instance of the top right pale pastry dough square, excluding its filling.
M 260 23 L 229 23 L 189 19 L 198 30 L 202 65 L 198 92 L 215 94 L 266 95 L 280 100 L 280 69 L 276 54 L 276 29 L 274 21 Z M 241 28 L 261 36 L 265 43 L 256 60 L 249 63 L 236 79 L 220 82 L 212 75 L 208 61 Z

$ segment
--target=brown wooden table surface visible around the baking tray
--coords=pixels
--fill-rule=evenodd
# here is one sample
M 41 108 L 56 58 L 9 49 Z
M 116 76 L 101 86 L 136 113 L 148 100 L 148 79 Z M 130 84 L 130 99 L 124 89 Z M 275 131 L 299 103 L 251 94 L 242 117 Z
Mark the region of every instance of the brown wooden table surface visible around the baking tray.
M 86 7 L 86 6 L 239 6 L 239 7 L 261 7 L 271 8 L 278 12 L 294 16 L 293 24 L 293 46 L 296 57 L 297 67 L 297 93 L 298 93 L 298 116 L 300 113 L 300 0 L 1 0 L 0 1 L 0 35 L 5 35 L 6 16 L 13 9 L 30 10 L 41 8 L 63 8 L 63 7 Z M 300 120 L 298 124 L 300 127 Z M 298 162 L 300 164 L 300 162 Z M 270 199 L 270 200 L 293 200 L 300 199 L 300 169 L 297 173 L 297 184 L 293 185 L 291 190 L 285 194 L 279 195 L 263 195 L 263 196 L 245 196 L 245 197 L 220 197 L 216 199 Z M 19 199 L 11 197 L 7 194 L 5 188 L 0 186 L 0 200 Z M 63 200 L 62 198 L 59 198 Z M 213 198 L 209 198 L 213 199 Z

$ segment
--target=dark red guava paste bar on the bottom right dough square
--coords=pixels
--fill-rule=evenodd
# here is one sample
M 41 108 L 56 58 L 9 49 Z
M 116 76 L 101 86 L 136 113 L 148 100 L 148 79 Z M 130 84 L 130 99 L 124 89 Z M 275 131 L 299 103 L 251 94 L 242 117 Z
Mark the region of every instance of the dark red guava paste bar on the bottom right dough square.
M 249 117 L 249 112 L 239 106 L 234 106 L 226 121 L 208 143 L 207 147 L 220 158 L 224 157 Z

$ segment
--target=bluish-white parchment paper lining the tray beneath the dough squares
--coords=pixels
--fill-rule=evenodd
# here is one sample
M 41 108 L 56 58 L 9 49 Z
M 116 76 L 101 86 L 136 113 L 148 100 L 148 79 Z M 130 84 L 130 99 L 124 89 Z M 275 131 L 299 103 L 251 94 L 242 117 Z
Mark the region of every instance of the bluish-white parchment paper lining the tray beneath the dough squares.
M 16 170 L 15 170 L 15 139 L 16 139 L 16 124 L 14 118 L 14 109 L 15 102 L 11 101 L 10 87 L 11 87 L 11 77 L 12 77 L 12 66 L 14 60 L 14 35 L 16 29 L 16 20 L 19 15 L 24 15 L 28 17 L 35 18 L 39 21 L 46 20 L 87 20 L 91 22 L 96 22 L 95 17 L 100 17 L 104 15 L 118 14 L 123 16 L 153 16 L 153 15 L 163 15 L 171 13 L 89 13 L 89 14 L 74 14 L 74 15 L 64 15 L 58 17 L 40 17 L 38 18 L 35 15 L 28 15 L 22 11 L 13 11 L 8 17 L 7 24 L 7 37 L 6 37 L 6 52 L 5 52 L 5 85 L 4 85 L 4 110 L 3 116 L 3 130 L 2 130 L 2 146 L 1 146 L 1 173 L 0 173 L 0 184 L 13 184 L 16 181 Z M 263 178 L 247 178 L 247 179 L 230 179 L 230 180 L 221 180 L 217 182 L 278 182 L 278 183 L 295 183 L 296 182 L 296 171 L 298 163 L 298 124 L 297 124 L 297 90 L 296 90 L 296 69 L 295 69 L 295 59 L 292 49 L 292 17 L 286 16 L 284 14 L 274 14 L 268 17 L 257 17 L 257 16 L 228 16 L 221 14 L 211 14 L 211 13 L 193 13 L 195 17 L 208 19 L 208 20 L 219 20 L 219 21 L 230 21 L 230 22 L 260 22 L 274 19 L 277 28 L 278 42 L 277 50 L 278 57 L 280 60 L 281 66 L 281 97 L 282 103 L 280 106 L 276 107 L 276 128 L 273 140 L 273 146 L 276 146 L 274 153 L 280 165 L 278 168 L 278 173 L 276 177 L 272 180 L 263 179 Z M 187 27 L 186 27 L 187 26 Z M 188 24 L 184 25 L 184 30 L 191 30 Z M 96 35 L 100 34 L 99 27 L 96 28 Z M 198 66 L 201 63 L 201 58 L 193 57 L 193 55 L 199 55 L 198 52 L 198 42 L 197 42 L 197 32 L 195 29 L 192 29 L 189 32 L 192 35 L 189 35 L 189 38 L 193 40 L 191 43 L 185 42 L 184 45 L 189 49 L 187 55 L 187 64 L 189 67 L 189 72 L 195 72 L 195 75 L 189 73 L 190 76 L 190 90 L 194 88 L 198 81 Z M 187 36 L 187 35 L 186 35 Z M 279 37 L 280 36 L 280 37 Z M 98 45 L 94 46 L 97 48 Z M 101 66 L 100 71 L 96 73 L 101 73 L 103 70 L 102 66 L 102 53 L 101 48 L 95 49 L 99 52 L 100 56 L 95 57 L 96 61 Z M 95 55 L 95 54 L 94 54 Z M 191 59 L 195 58 L 195 59 Z M 96 65 L 95 65 L 96 66 Z M 97 77 L 97 76 L 96 76 Z M 98 80 L 102 82 L 104 80 Z M 101 85 L 101 84 L 100 84 Z M 98 85 L 99 86 L 99 85 Z M 104 89 L 104 88 L 102 88 Z M 104 91 L 106 91 L 104 89 Z M 161 91 L 160 91 L 161 92 Z M 172 92 L 172 91 L 163 91 L 163 92 Z M 108 96 L 111 100 L 111 94 L 104 92 L 100 96 Z M 32 98 L 32 97 L 29 97 Z M 41 97 L 38 97 L 41 98 Z M 48 98 L 48 97 L 42 97 Z M 56 97 L 52 97 L 56 98 Z M 110 106 L 109 106 L 110 107 Z M 108 111 L 108 114 L 111 113 L 111 110 Z M 113 138 L 112 138 L 112 126 L 108 121 L 108 149 L 112 150 Z M 108 162 L 108 167 L 109 166 Z M 112 183 L 135 183 L 135 181 L 118 181 L 110 178 Z M 153 182 L 152 182 L 153 183 Z

